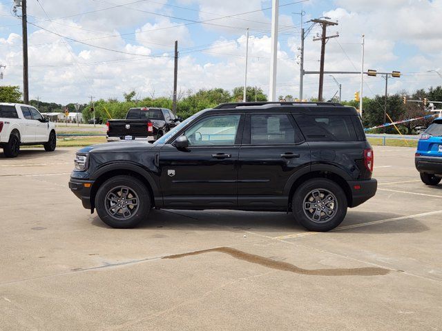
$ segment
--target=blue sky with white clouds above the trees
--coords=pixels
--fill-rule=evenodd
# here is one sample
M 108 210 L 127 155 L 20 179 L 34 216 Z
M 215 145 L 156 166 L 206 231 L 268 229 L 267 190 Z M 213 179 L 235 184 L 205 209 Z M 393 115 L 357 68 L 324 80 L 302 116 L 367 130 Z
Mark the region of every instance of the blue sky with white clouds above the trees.
M 442 85 L 442 0 L 280 0 L 277 95 L 299 95 L 299 47 L 310 19 L 329 17 L 325 70 L 401 71 L 389 93 Z M 270 0 L 28 0 L 30 99 L 66 105 L 95 99 L 170 97 L 173 46 L 178 41 L 178 94 L 244 84 L 269 94 Z M 302 15 L 301 15 L 302 13 Z M 17 10 L 21 14 L 21 10 Z M 320 26 L 305 39 L 305 70 L 319 70 Z M 21 20 L 12 0 L 0 0 L 1 85 L 22 87 Z M 334 74 L 343 100 L 360 89 L 357 74 Z M 307 74 L 304 97 L 317 97 L 318 75 Z M 325 75 L 324 98 L 338 84 Z M 364 95 L 385 92 L 385 79 L 365 77 Z

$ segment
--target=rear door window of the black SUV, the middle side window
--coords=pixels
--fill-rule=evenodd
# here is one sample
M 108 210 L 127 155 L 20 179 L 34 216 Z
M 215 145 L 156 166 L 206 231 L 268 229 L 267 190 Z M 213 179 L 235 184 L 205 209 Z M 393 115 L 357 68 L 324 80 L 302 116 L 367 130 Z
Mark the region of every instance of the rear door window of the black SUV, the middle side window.
M 252 114 L 250 119 L 252 145 L 295 143 L 295 130 L 287 114 Z

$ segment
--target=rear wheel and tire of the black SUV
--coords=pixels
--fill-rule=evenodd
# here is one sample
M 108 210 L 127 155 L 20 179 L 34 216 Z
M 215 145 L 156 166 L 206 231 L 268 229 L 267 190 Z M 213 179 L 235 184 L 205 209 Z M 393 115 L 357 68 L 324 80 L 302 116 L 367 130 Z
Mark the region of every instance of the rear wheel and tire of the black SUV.
M 309 179 L 299 186 L 294 193 L 291 209 L 304 228 L 325 232 L 336 228 L 344 220 L 347 205 L 345 192 L 337 183 L 318 178 Z

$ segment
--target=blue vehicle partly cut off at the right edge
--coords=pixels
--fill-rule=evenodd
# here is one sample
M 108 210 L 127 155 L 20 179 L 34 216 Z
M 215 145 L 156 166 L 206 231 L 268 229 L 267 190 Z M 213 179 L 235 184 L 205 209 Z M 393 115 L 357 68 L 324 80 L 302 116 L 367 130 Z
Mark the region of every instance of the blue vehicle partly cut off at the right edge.
M 437 185 L 442 180 L 442 118 L 435 119 L 421 134 L 415 155 L 416 169 L 423 183 Z

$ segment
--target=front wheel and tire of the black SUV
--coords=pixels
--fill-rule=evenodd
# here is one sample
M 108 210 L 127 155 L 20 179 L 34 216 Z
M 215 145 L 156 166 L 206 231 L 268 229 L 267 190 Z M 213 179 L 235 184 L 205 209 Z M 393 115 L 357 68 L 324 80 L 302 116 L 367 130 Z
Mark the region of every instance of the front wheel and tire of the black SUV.
M 127 194 L 126 190 L 121 188 L 127 188 Z M 137 205 L 132 205 L 131 208 L 131 202 L 135 200 Z M 122 208 L 118 208 L 119 203 L 122 204 Z M 124 207 L 123 203 L 128 205 Z M 131 176 L 116 176 L 99 187 L 95 196 L 95 208 L 99 218 L 112 228 L 133 228 L 143 221 L 151 210 L 151 195 L 142 181 Z

